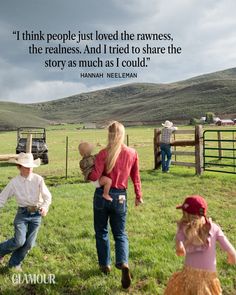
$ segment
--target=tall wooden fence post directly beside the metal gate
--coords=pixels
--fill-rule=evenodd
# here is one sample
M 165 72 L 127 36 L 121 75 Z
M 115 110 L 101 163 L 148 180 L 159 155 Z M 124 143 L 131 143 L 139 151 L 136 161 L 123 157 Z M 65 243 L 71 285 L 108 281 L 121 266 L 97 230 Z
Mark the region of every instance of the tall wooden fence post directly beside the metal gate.
M 195 126 L 195 170 L 197 175 L 203 172 L 203 130 L 202 125 Z

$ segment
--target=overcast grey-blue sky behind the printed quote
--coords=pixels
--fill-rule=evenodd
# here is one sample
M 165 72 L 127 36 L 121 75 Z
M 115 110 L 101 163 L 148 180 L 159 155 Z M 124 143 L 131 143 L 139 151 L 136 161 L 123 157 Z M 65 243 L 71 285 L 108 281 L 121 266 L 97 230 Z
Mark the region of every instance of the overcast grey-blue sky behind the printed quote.
M 168 83 L 235 67 L 235 11 L 235 0 L 1 1 L 0 100 L 46 101 L 123 83 Z M 85 79 L 80 77 L 82 70 L 78 68 L 44 68 L 43 62 L 47 58 L 29 55 L 30 42 L 17 41 L 12 34 L 14 30 L 170 33 L 173 43 L 182 47 L 182 53 L 150 55 L 148 67 L 144 69 L 109 69 L 110 72 L 137 72 L 137 79 Z M 142 47 L 146 43 L 133 41 L 131 45 Z M 167 46 L 169 43 L 156 41 L 150 45 Z M 96 42 L 88 44 L 97 45 Z M 58 42 L 51 45 L 56 46 Z M 50 58 L 60 59 L 60 56 Z M 79 56 L 70 58 L 78 59 Z M 114 56 L 101 55 L 101 58 Z M 101 69 L 86 71 L 101 72 Z

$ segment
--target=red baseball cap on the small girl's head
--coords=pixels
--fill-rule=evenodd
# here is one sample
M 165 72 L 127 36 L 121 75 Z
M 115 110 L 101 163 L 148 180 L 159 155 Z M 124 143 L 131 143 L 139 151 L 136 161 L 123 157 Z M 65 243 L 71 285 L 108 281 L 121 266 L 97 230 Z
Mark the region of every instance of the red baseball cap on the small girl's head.
M 188 196 L 182 205 L 176 207 L 176 209 L 182 209 L 183 211 L 199 216 L 205 216 L 207 213 L 207 202 L 199 195 Z

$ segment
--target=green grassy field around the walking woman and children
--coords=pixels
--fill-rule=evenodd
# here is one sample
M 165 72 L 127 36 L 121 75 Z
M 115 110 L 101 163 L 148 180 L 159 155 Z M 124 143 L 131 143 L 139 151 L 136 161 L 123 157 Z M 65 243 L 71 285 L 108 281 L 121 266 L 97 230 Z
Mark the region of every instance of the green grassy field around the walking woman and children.
M 105 130 L 80 130 L 77 125 L 48 129 L 49 165 L 35 172 L 46 178 L 53 203 L 44 219 L 35 247 L 25 259 L 23 274 L 55 274 L 56 284 L 13 284 L 14 273 L 0 267 L 0 294 L 162 294 L 170 275 L 182 266 L 174 251 L 176 204 L 188 194 L 202 194 L 209 204 L 209 216 L 221 225 L 236 246 L 235 175 L 204 173 L 195 176 L 193 168 L 171 167 L 171 173 L 153 170 L 153 127 L 127 128 L 130 146 L 140 156 L 145 203 L 134 207 L 132 184 L 128 189 L 127 232 L 130 241 L 130 267 L 133 281 L 129 291 L 120 284 L 120 271 L 113 266 L 109 276 L 97 267 L 93 231 L 93 187 L 83 183 L 80 174 L 78 143 L 89 140 L 96 151 L 106 144 Z M 65 179 L 65 137 L 69 138 L 68 179 Z M 0 154 L 14 153 L 15 132 L 0 133 Z M 0 163 L 0 189 L 17 169 Z M 13 234 L 15 200 L 0 212 L 0 241 Z M 114 243 L 112 241 L 114 262 Z M 224 295 L 236 294 L 236 267 L 226 263 L 217 249 L 218 272 Z M 6 259 L 7 261 L 7 259 Z

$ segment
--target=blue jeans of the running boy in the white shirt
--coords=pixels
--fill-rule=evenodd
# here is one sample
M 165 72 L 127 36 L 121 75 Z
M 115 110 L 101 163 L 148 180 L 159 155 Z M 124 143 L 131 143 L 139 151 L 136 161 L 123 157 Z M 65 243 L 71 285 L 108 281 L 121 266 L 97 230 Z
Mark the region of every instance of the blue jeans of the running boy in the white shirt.
M 14 237 L 0 244 L 0 256 L 12 253 L 9 267 L 20 265 L 34 246 L 41 218 L 39 212 L 29 213 L 26 208 L 18 208 L 14 220 Z

